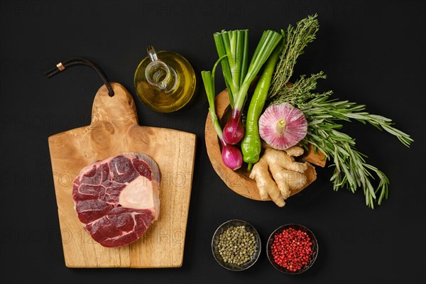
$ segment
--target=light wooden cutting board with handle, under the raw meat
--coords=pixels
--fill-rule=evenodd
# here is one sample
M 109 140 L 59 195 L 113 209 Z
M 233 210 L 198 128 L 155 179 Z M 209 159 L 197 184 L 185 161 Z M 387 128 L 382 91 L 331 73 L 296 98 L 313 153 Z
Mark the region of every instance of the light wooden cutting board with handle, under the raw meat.
M 138 125 L 135 103 L 121 84 L 103 85 L 94 97 L 92 123 L 49 137 L 65 265 L 72 268 L 162 268 L 182 266 L 196 136 Z M 72 182 L 89 163 L 124 152 L 146 153 L 161 173 L 160 217 L 141 239 L 105 248 L 77 218 Z

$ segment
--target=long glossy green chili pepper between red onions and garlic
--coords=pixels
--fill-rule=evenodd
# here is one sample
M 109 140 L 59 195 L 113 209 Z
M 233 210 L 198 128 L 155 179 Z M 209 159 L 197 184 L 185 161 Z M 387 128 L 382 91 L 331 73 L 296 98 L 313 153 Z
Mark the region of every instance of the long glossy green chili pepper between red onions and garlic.
M 284 32 L 281 32 L 284 38 Z M 282 50 L 283 44 L 278 44 L 273 53 L 271 53 L 250 101 L 249 111 L 247 112 L 246 133 L 241 141 L 244 162 L 249 164 L 248 170 L 251 170 L 253 163 L 256 163 L 261 155 L 262 143 L 261 136 L 259 136 L 258 121 L 265 106 L 275 65 L 280 58 Z

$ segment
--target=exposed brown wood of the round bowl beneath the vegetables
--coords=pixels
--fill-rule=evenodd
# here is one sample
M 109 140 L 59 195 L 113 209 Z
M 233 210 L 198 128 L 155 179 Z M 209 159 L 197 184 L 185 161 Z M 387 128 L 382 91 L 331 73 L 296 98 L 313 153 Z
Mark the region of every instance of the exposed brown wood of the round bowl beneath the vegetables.
M 223 120 L 226 120 L 226 116 L 229 115 L 229 96 L 226 89 L 217 95 L 214 102 L 216 104 L 216 113 L 219 121 L 222 122 Z M 225 119 L 223 119 L 224 117 Z M 250 172 L 246 170 L 247 165 L 245 163 L 243 164 L 243 167 L 234 171 L 230 168 L 227 168 L 226 165 L 224 165 L 222 162 L 219 140 L 217 138 L 216 131 L 214 131 L 214 126 L 210 114 L 207 114 L 204 136 L 206 140 L 207 155 L 209 155 L 210 162 L 212 163 L 212 166 L 217 175 L 219 175 L 225 184 L 239 195 L 250 198 L 252 200 L 261 200 L 256 182 L 249 178 Z M 317 160 L 317 158 L 312 158 L 312 155 L 316 154 L 311 151 L 310 155 L 305 155 L 304 160 Z M 308 166 L 307 170 L 305 171 L 305 175 L 307 176 L 307 183 L 302 189 L 293 190 L 290 196 L 304 190 L 308 185 L 317 179 L 315 167 L 307 162 L 305 162 L 305 164 Z

